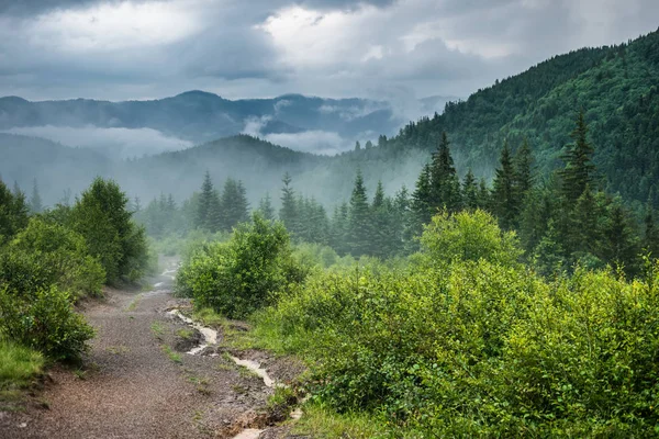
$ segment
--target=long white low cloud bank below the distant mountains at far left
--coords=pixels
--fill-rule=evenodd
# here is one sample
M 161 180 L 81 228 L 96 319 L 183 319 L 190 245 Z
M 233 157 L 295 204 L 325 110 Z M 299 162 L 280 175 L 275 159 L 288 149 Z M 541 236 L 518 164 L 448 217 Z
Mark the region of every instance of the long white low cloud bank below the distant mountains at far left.
M 91 148 L 114 158 L 142 157 L 193 146 L 191 142 L 169 137 L 152 128 L 79 128 L 46 125 L 16 127 L 5 133 L 43 137 L 66 146 Z

